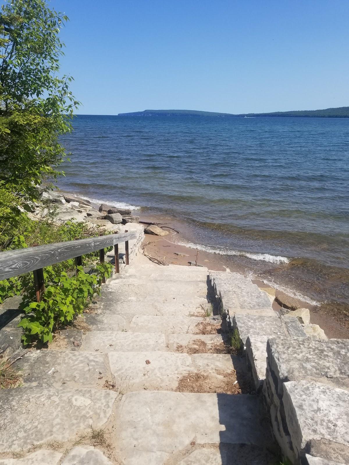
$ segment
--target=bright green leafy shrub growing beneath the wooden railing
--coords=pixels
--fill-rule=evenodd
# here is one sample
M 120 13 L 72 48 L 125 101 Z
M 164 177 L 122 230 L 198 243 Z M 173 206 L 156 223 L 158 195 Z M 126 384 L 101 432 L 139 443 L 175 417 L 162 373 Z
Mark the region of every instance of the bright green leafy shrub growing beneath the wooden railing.
M 100 292 L 102 278 L 108 278 L 112 268 L 109 263 L 103 263 L 95 266 L 90 275 L 78 266 L 75 276 L 69 277 L 66 272 L 54 276 L 40 302 L 30 302 L 27 297 L 26 316 L 18 325 L 24 329 L 23 344 L 30 344 L 34 339 L 52 342 L 52 332 L 59 326 L 71 324 L 74 316 L 83 312 L 94 293 Z

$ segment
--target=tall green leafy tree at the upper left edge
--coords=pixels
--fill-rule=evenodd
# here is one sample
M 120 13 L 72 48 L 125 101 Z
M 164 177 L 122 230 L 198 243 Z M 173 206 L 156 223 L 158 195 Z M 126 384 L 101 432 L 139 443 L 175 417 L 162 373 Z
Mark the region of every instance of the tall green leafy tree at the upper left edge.
M 59 142 L 71 131 L 79 105 L 69 91 L 73 78 L 59 77 L 68 20 L 45 0 L 8 1 L 0 13 L 0 215 L 1 230 L 16 222 L 19 205 L 35 188 L 56 178 L 66 156 Z

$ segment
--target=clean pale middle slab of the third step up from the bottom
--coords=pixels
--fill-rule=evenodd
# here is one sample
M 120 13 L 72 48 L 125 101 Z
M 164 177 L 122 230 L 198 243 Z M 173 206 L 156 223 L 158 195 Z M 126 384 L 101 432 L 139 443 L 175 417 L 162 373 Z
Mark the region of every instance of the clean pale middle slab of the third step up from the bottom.
M 82 351 L 107 352 L 141 352 L 165 351 L 165 336 L 158 333 L 92 331 L 84 337 Z

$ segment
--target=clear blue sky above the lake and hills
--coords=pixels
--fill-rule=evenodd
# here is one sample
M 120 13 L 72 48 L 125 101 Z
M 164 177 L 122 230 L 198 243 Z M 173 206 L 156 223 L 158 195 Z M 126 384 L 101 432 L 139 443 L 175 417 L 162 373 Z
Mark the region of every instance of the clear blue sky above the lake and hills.
M 349 105 L 349 0 L 51 0 L 79 113 Z

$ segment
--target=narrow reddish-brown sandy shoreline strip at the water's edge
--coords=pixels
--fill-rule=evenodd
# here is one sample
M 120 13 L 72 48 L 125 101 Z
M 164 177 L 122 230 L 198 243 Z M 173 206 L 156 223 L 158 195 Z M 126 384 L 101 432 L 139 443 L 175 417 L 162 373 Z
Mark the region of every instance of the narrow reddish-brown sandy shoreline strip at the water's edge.
M 125 202 L 108 200 L 102 202 L 99 199 L 92 199 L 91 197 L 86 197 L 77 193 L 71 193 L 63 189 L 58 189 L 58 192 L 61 194 L 64 193 L 72 195 L 73 197 L 79 196 L 83 199 L 88 199 L 94 208 L 97 209 L 101 203 L 111 207 L 133 207 L 132 205 Z M 169 226 L 178 231 L 178 233 L 169 231 L 169 233 L 163 237 L 145 234 L 145 239 L 143 240 L 142 246 L 145 246 L 149 255 L 154 256 L 154 258 L 159 259 L 160 261 L 164 260 L 167 264 L 185 266 L 189 266 L 189 261 L 195 262 L 197 256 L 198 265 L 206 266 L 210 270 L 238 272 L 242 275 L 248 276 L 252 282 L 257 284 L 257 286 L 259 286 L 263 291 L 267 292 L 271 302 L 273 302 L 273 308 L 275 310 L 279 310 L 281 308 L 281 306 L 275 302 L 275 297 L 291 297 L 298 302 L 299 308 L 309 309 L 310 322 L 312 324 L 319 325 L 325 331 L 325 334 L 328 338 L 349 338 L 349 314 L 346 307 L 344 307 L 344 309 L 340 308 L 341 304 L 338 303 L 337 305 L 333 302 L 329 304 L 326 302 L 314 302 L 313 299 L 308 298 L 306 295 L 302 295 L 301 292 L 294 292 L 292 289 L 287 289 L 287 286 L 279 286 L 276 283 L 270 282 L 268 279 L 263 280 L 262 277 L 256 276 L 256 274 L 258 274 L 256 270 L 255 272 L 253 271 L 253 261 L 252 264 L 247 267 L 242 260 L 240 260 L 241 263 L 238 263 L 239 256 L 223 255 L 190 247 L 186 245 L 188 240 L 183 237 L 186 232 L 186 228 L 189 228 L 189 225 L 186 221 L 173 218 L 170 215 L 150 213 L 142 210 L 142 207 L 134 208 L 132 209 L 132 214 L 140 216 L 140 221 L 152 221 L 154 223 L 161 223 L 165 230 L 166 226 Z M 195 244 L 192 245 L 194 246 Z M 265 264 L 263 263 L 263 265 Z M 255 263 L 255 269 L 256 268 L 257 263 Z M 337 309 L 336 307 L 339 308 Z

